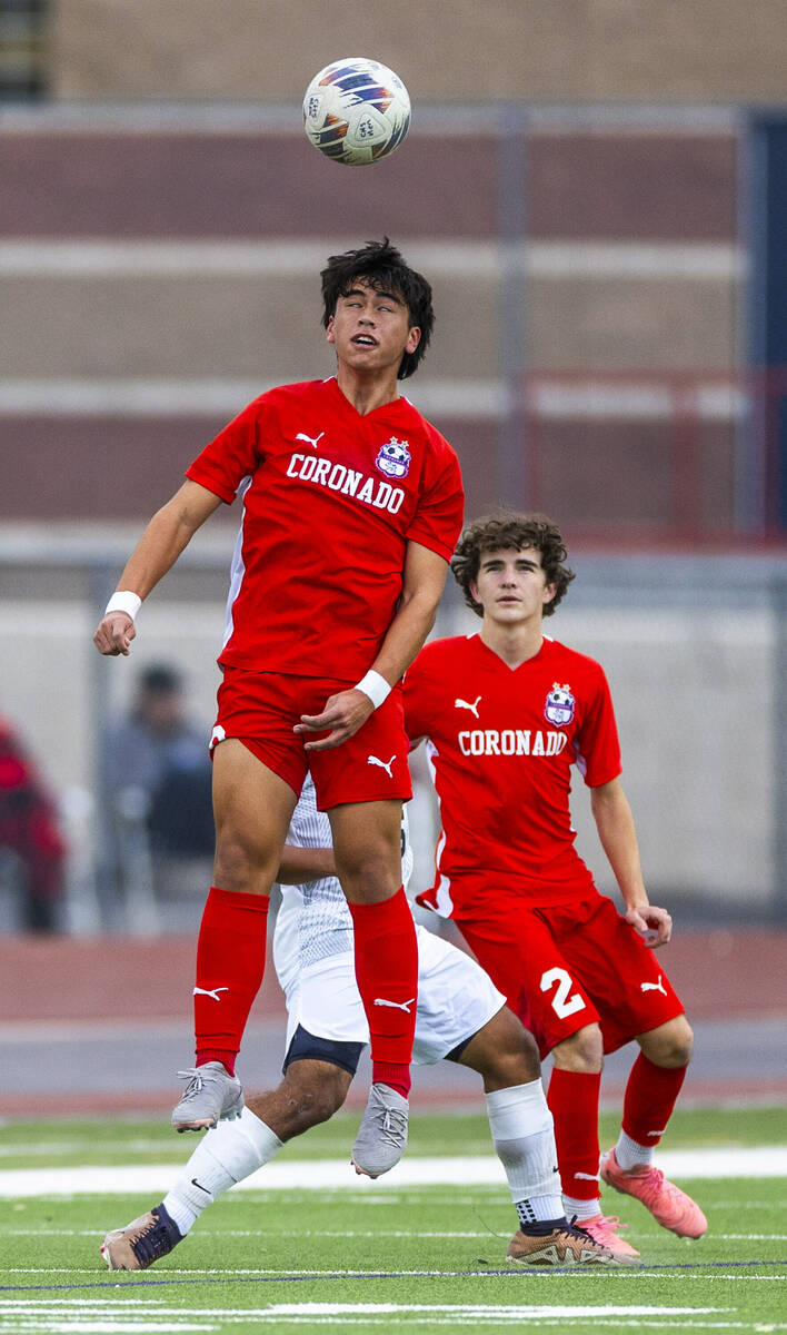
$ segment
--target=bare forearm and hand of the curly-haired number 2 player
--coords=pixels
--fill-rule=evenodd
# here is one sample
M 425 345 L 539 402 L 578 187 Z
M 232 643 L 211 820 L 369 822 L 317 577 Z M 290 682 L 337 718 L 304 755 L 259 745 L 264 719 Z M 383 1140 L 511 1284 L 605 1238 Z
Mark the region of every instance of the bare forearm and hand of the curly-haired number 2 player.
M 672 918 L 667 909 L 648 902 L 634 816 L 620 780 L 592 788 L 591 808 L 602 848 L 620 886 L 626 921 L 642 933 L 646 945 L 664 945 L 672 934 Z

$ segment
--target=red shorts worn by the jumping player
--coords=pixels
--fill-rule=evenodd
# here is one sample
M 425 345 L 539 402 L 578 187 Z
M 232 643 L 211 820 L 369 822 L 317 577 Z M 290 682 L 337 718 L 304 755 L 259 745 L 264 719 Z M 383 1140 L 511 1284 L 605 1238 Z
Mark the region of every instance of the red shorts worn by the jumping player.
M 355 682 L 225 668 L 211 745 L 236 737 L 300 796 L 311 770 L 321 812 L 341 802 L 412 797 L 402 688 L 395 686 L 363 728 L 340 746 L 307 752 L 304 741 L 327 733 L 293 733 L 301 714 L 321 714 L 325 701 Z

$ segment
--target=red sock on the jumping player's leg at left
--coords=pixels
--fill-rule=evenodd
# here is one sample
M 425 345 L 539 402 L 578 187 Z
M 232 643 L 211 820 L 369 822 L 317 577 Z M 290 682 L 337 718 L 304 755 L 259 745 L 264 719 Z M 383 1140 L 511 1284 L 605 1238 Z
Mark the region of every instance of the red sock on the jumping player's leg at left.
M 196 1064 L 235 1059 L 248 1012 L 265 972 L 267 894 L 236 894 L 211 886 L 196 957 L 193 1028 Z

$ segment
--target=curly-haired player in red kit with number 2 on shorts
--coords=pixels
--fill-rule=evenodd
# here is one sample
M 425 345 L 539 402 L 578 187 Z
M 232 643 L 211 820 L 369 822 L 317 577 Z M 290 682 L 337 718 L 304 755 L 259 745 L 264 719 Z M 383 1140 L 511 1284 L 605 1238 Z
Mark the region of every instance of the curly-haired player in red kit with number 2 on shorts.
M 428 740 L 442 832 L 418 901 L 455 920 L 508 1005 L 552 1053 L 566 1214 L 618 1255 L 639 1255 L 599 1203 L 604 1052 L 636 1039 L 620 1139 L 600 1176 L 680 1236 L 699 1206 L 652 1165 L 691 1057 L 692 1032 L 652 948 L 672 922 L 648 902 L 620 785 L 612 701 L 598 662 L 542 633 L 570 581 L 558 527 L 502 513 L 474 523 L 452 561 L 479 634 L 428 643 L 407 672 L 406 724 Z M 623 896 L 620 916 L 574 846 L 571 769 Z

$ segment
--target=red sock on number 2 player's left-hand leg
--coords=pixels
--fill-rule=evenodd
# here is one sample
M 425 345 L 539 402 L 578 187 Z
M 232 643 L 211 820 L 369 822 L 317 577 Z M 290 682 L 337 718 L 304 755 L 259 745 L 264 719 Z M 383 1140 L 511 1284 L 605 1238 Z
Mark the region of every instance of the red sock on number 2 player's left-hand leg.
M 599 1092 L 602 1073 L 555 1068 L 547 1103 L 555 1119 L 555 1143 L 563 1193 L 575 1200 L 598 1200 Z

